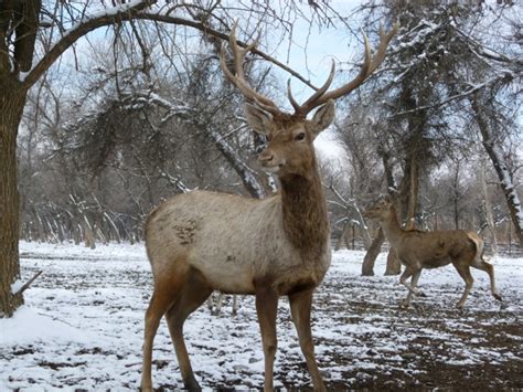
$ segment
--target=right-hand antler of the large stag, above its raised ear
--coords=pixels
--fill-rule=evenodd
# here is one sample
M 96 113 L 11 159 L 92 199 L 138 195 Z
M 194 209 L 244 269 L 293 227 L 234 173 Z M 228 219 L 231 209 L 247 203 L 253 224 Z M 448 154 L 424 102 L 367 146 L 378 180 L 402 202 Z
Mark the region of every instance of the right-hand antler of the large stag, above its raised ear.
M 333 89 L 332 92 L 327 93 L 329 86 L 332 83 L 334 77 L 335 66 L 334 61 L 332 61 L 331 73 L 327 78 L 327 82 L 321 86 L 314 94 L 312 94 L 309 99 L 307 99 L 302 105 L 298 105 L 296 99 L 292 97 L 292 93 L 290 91 L 290 80 L 287 83 L 287 95 L 289 97 L 290 104 L 295 108 L 296 115 L 307 116 L 307 114 L 312 110 L 314 107 L 318 107 L 329 99 L 337 99 L 343 95 L 349 94 L 356 87 L 359 87 L 365 80 L 380 66 L 380 64 L 385 59 L 385 53 L 388 46 L 388 43 L 396 34 L 397 29 L 399 28 L 398 23 L 395 23 L 393 29 L 386 33 L 383 28 L 380 28 L 380 46 L 377 47 L 376 54 L 374 57 L 371 56 L 371 46 L 369 45 L 369 38 L 363 34 L 363 42 L 365 45 L 365 60 L 363 61 L 362 68 L 360 73 L 348 84 Z

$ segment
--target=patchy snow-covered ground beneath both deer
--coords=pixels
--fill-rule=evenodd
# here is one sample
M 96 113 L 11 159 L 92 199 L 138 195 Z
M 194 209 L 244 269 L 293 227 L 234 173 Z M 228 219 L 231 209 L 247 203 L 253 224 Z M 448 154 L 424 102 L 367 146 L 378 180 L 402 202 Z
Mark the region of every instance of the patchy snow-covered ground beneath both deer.
M 141 245 L 87 250 L 21 243 L 23 279 L 43 275 L 25 292 L 12 319 L 0 319 L 0 391 L 137 390 L 143 314 L 151 275 Z M 523 258 L 497 258 L 503 304 L 482 271 L 466 310 L 455 305 L 463 282 L 451 267 L 424 271 L 408 310 L 397 276 L 361 277 L 362 252 L 341 251 L 318 289 L 313 309 L 317 357 L 328 388 L 523 388 Z M 263 352 L 252 297 L 231 316 L 206 307 L 185 324 L 196 379 L 205 389 L 260 388 Z M 310 385 L 287 300 L 278 311 L 276 386 Z M 154 341 L 153 383 L 182 386 L 164 322 Z

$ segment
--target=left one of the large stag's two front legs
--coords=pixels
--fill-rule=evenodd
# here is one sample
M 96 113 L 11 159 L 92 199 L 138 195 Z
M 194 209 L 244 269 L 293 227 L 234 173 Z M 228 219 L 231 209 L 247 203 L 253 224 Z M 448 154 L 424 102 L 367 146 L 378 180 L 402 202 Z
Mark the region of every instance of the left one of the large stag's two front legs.
M 276 337 L 276 314 L 278 309 L 278 295 L 271 287 L 255 287 L 256 311 L 258 314 L 262 345 L 265 357 L 264 391 L 274 391 L 274 362 L 278 345 Z

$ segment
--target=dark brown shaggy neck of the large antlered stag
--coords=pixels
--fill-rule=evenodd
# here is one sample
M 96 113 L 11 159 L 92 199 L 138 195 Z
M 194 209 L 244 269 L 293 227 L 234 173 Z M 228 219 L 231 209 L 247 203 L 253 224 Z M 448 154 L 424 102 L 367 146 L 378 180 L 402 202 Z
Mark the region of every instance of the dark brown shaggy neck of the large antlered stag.
M 280 177 L 284 231 L 302 254 L 318 257 L 328 248 L 327 202 L 316 161 L 307 176 Z

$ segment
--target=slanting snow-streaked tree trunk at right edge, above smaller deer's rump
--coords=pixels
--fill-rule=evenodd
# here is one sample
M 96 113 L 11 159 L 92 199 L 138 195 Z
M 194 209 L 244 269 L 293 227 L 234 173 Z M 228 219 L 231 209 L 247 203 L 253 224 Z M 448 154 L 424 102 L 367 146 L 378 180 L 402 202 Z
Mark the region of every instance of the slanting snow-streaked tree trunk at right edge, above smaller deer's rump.
M 520 198 L 514 188 L 508 165 L 495 144 L 494 130 L 491 127 L 488 114 L 484 112 L 482 105 L 478 102 L 478 94 L 470 99 L 472 109 L 476 114 L 476 121 L 481 131 L 483 138 L 483 147 L 492 161 L 495 173 L 501 183 L 501 189 L 509 206 L 512 223 L 514 224 L 515 235 L 520 242 L 520 246 L 523 246 L 523 210 L 521 206 Z

